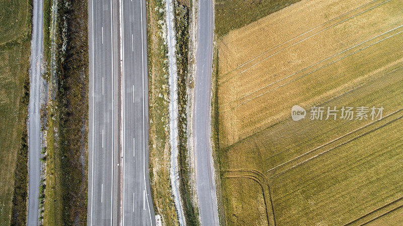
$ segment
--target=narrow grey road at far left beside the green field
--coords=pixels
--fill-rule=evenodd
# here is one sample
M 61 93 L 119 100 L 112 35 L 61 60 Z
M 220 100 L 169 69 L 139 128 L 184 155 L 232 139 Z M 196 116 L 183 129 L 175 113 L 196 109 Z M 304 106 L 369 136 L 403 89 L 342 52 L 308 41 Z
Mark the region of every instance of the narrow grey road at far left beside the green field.
M 33 1 L 31 39 L 31 81 L 29 93 L 29 196 L 28 226 L 38 224 L 40 183 L 40 89 L 41 54 L 43 47 L 43 0 Z

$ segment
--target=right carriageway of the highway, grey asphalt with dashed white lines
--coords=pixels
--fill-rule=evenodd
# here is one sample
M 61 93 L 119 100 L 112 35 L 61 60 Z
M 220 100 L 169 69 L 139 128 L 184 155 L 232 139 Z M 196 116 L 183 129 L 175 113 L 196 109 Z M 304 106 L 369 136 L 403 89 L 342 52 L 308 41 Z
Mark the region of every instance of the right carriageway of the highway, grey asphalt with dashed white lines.
M 155 225 L 149 183 L 145 0 L 120 0 L 122 33 L 122 225 Z

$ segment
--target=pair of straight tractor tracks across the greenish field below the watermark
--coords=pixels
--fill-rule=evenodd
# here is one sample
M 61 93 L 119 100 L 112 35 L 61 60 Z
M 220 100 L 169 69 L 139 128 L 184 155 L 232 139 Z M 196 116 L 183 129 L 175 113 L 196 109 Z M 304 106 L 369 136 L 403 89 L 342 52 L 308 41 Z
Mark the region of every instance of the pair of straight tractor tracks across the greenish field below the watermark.
M 401 110 L 403 110 L 403 108 L 401 108 L 401 109 L 399 109 L 399 110 L 397 110 L 397 111 L 394 111 L 394 112 L 388 114 L 387 116 L 383 117 L 382 119 L 384 119 L 384 118 L 386 118 L 386 117 L 388 117 L 388 116 L 390 116 L 390 115 L 392 115 L 392 114 L 395 114 L 395 113 L 397 113 L 397 112 L 399 112 L 399 111 L 401 111 Z M 331 147 L 331 148 L 329 148 L 329 149 L 327 149 L 327 150 L 324 150 L 323 152 L 318 153 L 317 155 L 312 156 L 312 157 L 310 157 L 310 158 L 304 160 L 304 161 L 301 162 L 301 163 L 298 163 L 298 164 L 296 164 L 296 165 L 294 165 L 294 166 L 292 166 L 292 167 L 286 168 L 286 169 L 285 169 L 284 171 L 282 171 L 282 172 L 279 172 L 279 173 L 275 173 L 275 174 L 273 174 L 273 175 L 270 175 L 270 176 L 268 176 L 268 178 L 273 179 L 273 178 L 275 178 L 275 177 L 279 177 L 279 176 L 285 174 L 286 172 L 292 170 L 292 169 L 295 168 L 295 167 L 298 167 L 298 166 L 300 166 L 300 165 L 302 165 L 302 164 L 305 164 L 305 163 L 309 162 L 310 160 L 315 159 L 316 157 L 319 157 L 319 156 L 321 156 L 321 155 L 323 155 L 323 154 L 326 154 L 326 153 L 330 152 L 331 150 L 334 150 L 334 149 L 336 149 L 336 148 L 338 148 L 338 147 L 341 147 L 341 146 L 343 146 L 343 145 L 345 145 L 345 144 L 347 144 L 347 143 L 349 143 L 349 142 L 351 142 L 351 141 L 353 141 L 353 140 L 356 140 L 356 139 L 358 139 L 358 138 L 360 138 L 360 137 L 362 137 L 362 136 L 368 135 L 369 133 L 374 132 L 374 131 L 376 131 L 376 130 L 378 130 L 378 129 L 380 129 L 380 128 L 386 126 L 386 125 L 389 125 L 390 123 L 395 122 L 395 121 L 397 121 L 397 120 L 399 120 L 399 119 L 401 119 L 401 118 L 403 118 L 403 115 L 401 115 L 401 116 L 399 116 L 399 117 L 397 117 L 397 118 L 391 119 L 390 121 L 388 121 L 388 122 L 386 122 L 386 123 L 384 123 L 384 124 L 382 124 L 382 125 L 380 125 L 380 126 L 378 126 L 378 127 L 376 127 L 376 128 L 373 128 L 373 129 L 371 129 L 371 130 L 369 130 L 369 131 L 366 131 L 366 132 L 364 132 L 364 133 L 362 133 L 362 134 L 360 134 L 360 135 L 358 135 L 358 136 L 355 136 L 355 137 L 353 137 L 353 138 L 351 138 L 351 139 L 349 139 L 349 140 L 347 140 L 347 141 L 345 141 L 345 142 L 343 142 L 343 143 L 340 143 L 340 144 L 338 144 L 338 145 L 336 145 L 336 146 L 334 146 L 334 147 Z M 337 140 L 339 140 L 339 139 L 341 139 L 341 138 L 343 138 L 343 137 L 346 137 L 347 135 L 353 134 L 354 132 L 356 132 L 356 131 L 358 131 L 358 130 L 360 130 L 360 129 L 363 129 L 363 128 L 367 127 L 367 126 L 370 126 L 370 125 L 374 124 L 375 122 L 379 122 L 379 121 L 382 121 L 382 120 L 373 121 L 373 122 L 371 122 L 371 123 L 369 123 L 369 124 L 366 124 L 366 125 L 364 125 L 364 126 L 358 128 L 358 129 L 355 129 L 355 130 L 353 130 L 353 131 L 351 131 L 351 132 L 349 132 L 349 133 L 347 133 L 347 134 L 345 134 L 345 135 L 343 135 L 343 136 L 341 136 L 341 137 L 338 137 L 338 138 L 336 138 L 336 139 L 334 139 L 334 140 L 331 140 L 331 141 L 329 141 L 329 142 L 327 142 L 327 143 L 325 143 L 325 144 L 322 144 L 322 145 L 320 145 L 320 146 L 318 146 L 318 147 L 316 147 L 316 148 L 314 148 L 314 149 L 312 149 L 312 150 L 309 150 L 308 152 L 306 152 L 306 153 L 304 153 L 304 154 L 302 154 L 302 155 L 300 155 L 300 156 L 298 156 L 298 157 L 295 157 L 295 158 L 293 158 L 293 159 L 291 159 L 291 160 L 289 160 L 289 161 L 287 161 L 287 162 L 285 162 L 285 163 L 282 163 L 282 164 L 280 164 L 280 165 L 278 165 L 278 166 L 276 166 L 276 167 L 273 167 L 273 168 L 267 170 L 267 173 L 269 173 L 270 171 L 273 171 L 273 170 L 275 170 L 275 169 L 277 169 L 277 168 L 279 168 L 279 167 L 288 165 L 288 164 L 290 164 L 291 162 L 293 162 L 293 161 L 295 161 L 295 160 L 298 160 L 298 159 L 300 159 L 301 157 L 306 156 L 306 155 L 308 155 L 308 154 L 314 152 L 315 150 L 318 150 L 318 149 L 320 149 L 320 148 L 322 148 L 322 147 L 324 147 L 324 146 L 326 146 L 326 145 L 328 145 L 328 144 L 330 144 L 330 143 L 332 143 L 332 142 L 334 142 L 334 141 L 337 141 Z

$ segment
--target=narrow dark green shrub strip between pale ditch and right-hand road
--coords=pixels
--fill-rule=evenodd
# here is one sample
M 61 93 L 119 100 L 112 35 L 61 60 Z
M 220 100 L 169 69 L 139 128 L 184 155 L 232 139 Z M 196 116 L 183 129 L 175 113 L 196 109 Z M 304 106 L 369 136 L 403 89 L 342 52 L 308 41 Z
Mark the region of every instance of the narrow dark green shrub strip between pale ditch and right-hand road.
M 183 1 L 182 1 L 183 2 Z M 187 225 L 199 225 L 198 210 L 192 201 L 191 170 L 187 149 L 189 3 L 175 2 L 176 64 L 178 74 L 178 164 L 179 190 Z

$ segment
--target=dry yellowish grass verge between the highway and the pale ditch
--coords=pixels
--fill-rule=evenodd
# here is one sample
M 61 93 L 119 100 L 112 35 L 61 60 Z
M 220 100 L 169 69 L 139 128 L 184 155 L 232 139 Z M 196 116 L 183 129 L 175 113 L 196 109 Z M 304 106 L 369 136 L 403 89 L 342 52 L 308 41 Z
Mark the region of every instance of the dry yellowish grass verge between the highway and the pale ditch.
M 162 0 L 147 1 L 147 23 L 151 193 L 163 225 L 178 225 L 169 177 L 169 62 Z

